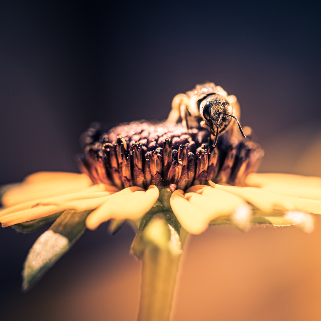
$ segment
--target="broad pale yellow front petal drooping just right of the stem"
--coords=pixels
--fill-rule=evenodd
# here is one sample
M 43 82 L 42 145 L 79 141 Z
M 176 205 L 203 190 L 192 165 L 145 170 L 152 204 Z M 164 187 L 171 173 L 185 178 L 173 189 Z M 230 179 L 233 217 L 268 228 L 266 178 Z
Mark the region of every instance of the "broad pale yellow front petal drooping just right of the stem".
M 235 208 L 245 204 L 244 200 L 230 193 L 208 186 L 196 186 L 183 195 L 176 190 L 169 200 L 170 206 L 182 227 L 192 234 L 200 234 L 213 219 L 230 215 Z

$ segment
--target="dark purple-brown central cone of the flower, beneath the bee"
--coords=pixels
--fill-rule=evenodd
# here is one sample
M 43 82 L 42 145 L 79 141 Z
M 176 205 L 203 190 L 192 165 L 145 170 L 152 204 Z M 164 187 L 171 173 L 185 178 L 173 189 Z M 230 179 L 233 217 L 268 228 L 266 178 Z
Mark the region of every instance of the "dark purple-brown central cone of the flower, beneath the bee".
M 168 186 L 186 190 L 192 185 L 215 183 L 244 185 L 256 171 L 263 150 L 221 135 L 215 148 L 206 128 L 186 129 L 182 124 L 133 122 L 100 133 L 83 134 L 85 153 L 80 168 L 94 183 L 130 186 Z

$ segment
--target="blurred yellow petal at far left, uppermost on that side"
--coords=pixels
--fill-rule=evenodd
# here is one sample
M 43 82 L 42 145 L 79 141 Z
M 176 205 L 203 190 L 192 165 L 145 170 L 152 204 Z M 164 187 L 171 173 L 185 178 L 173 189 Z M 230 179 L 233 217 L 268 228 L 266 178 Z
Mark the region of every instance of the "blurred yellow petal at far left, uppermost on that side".
M 33 199 L 76 193 L 92 185 L 91 179 L 86 174 L 66 174 L 67 178 L 61 179 L 47 179 L 31 182 L 30 180 L 27 180 L 25 183 L 22 183 L 22 185 L 13 187 L 4 193 L 1 201 L 4 204 L 4 207 L 8 207 Z

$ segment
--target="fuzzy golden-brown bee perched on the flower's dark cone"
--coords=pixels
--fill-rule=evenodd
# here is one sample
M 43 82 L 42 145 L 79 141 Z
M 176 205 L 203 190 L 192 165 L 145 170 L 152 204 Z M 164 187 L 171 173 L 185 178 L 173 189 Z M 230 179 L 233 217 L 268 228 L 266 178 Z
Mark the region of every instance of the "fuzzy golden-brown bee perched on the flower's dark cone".
M 213 82 L 196 85 L 193 90 L 174 97 L 167 121 L 177 123 L 179 117 L 187 129 L 198 125 L 208 127 L 213 135 L 213 147 L 219 135 L 225 132 L 230 138 L 237 136 L 237 130 L 246 139 L 239 123 L 240 107 L 236 97 L 228 96 L 221 86 Z

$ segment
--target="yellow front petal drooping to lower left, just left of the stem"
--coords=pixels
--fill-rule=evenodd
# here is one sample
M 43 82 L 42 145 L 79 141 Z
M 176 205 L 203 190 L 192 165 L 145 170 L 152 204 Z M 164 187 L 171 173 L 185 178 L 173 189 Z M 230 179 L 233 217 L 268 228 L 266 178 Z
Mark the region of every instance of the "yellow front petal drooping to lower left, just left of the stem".
M 159 190 L 155 185 L 148 187 L 146 192 L 140 187 L 125 188 L 109 196 L 107 202 L 89 214 L 86 225 L 95 230 L 111 218 L 137 220 L 152 208 L 158 196 Z

